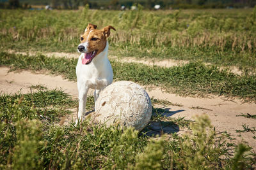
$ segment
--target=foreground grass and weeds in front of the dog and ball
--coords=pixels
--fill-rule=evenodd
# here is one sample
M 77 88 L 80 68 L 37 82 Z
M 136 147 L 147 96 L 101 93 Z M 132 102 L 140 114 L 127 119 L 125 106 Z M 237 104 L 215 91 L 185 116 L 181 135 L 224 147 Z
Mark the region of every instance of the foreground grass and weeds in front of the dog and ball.
M 0 103 L 1 169 L 232 169 L 234 166 L 250 169 L 255 166 L 255 155 L 248 146 L 238 145 L 234 155 L 230 155 L 234 145 L 216 136 L 206 115 L 190 122 L 191 134 L 174 133 L 157 139 L 138 136 L 138 131 L 131 128 L 90 124 L 89 119 L 77 127 L 72 122 L 60 126 L 63 112 L 70 114 L 68 108 L 75 108 L 77 101 L 59 90 L 1 95 Z M 176 122 L 171 120 L 171 123 Z

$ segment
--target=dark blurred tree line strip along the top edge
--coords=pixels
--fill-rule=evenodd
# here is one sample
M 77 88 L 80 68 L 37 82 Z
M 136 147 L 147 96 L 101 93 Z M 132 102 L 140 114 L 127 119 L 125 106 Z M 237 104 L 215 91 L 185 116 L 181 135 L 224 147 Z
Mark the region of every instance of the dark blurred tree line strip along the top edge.
M 1 8 L 31 8 L 30 5 L 51 5 L 57 9 L 78 9 L 79 6 L 89 4 L 93 9 L 120 10 L 121 6 L 131 8 L 134 4 L 141 4 L 144 9 L 154 10 L 159 4 L 161 9 L 188 9 L 188 8 L 252 8 L 253 0 L 1 0 Z

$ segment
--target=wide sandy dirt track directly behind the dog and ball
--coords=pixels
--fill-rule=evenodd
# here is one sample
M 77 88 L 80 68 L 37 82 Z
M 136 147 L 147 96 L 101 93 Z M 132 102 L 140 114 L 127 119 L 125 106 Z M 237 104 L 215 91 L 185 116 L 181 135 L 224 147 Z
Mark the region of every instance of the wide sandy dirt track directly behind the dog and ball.
M 31 73 L 30 71 L 21 71 L 19 73 L 10 72 L 9 67 L 0 67 L 0 91 L 6 94 L 14 94 L 17 91 L 22 93 L 30 92 L 31 85 L 43 85 L 47 89 L 62 89 L 72 97 L 77 97 L 76 82 L 64 80 L 61 76 L 51 76 L 49 74 Z M 242 130 L 243 124 L 248 127 L 256 127 L 256 120 L 252 118 L 237 117 L 241 113 L 255 114 L 255 103 L 242 103 L 239 99 L 227 101 L 223 97 L 212 96 L 211 98 L 180 97 L 175 94 L 163 92 L 159 88 L 150 88 L 147 90 L 150 97 L 164 99 L 182 106 L 165 106 L 168 110 L 166 117 L 185 117 L 192 119 L 195 115 L 207 114 L 211 118 L 212 125 L 217 131 L 227 131 L 237 141 L 245 141 L 253 147 L 256 152 L 256 133 L 243 132 L 237 133 L 236 130 Z M 90 90 L 89 95 L 93 95 Z M 180 129 L 180 131 L 184 131 Z M 239 137 L 239 135 L 241 136 Z

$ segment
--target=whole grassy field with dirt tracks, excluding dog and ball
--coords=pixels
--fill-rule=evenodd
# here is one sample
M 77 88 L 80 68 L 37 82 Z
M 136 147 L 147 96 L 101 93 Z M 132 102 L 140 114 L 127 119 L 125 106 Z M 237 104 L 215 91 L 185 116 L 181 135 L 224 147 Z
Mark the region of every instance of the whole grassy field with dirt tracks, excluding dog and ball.
M 142 132 L 90 116 L 74 125 L 88 22 L 116 29 L 114 81 L 148 90 L 153 116 Z M 1 169 L 255 168 L 256 7 L 1 10 L 0 28 Z

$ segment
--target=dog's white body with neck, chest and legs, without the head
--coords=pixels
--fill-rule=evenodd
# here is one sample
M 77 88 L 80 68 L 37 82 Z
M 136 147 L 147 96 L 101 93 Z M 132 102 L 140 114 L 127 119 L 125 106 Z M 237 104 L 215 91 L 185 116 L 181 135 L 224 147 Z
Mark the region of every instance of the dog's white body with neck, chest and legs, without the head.
M 77 89 L 79 92 L 79 108 L 77 119 L 83 120 L 86 113 L 86 99 L 89 89 L 95 89 L 94 100 L 97 100 L 100 90 L 107 87 L 113 81 L 113 71 L 108 60 L 108 42 L 102 52 L 95 57 L 88 65 L 82 64 L 82 57 L 79 56 L 76 66 Z

